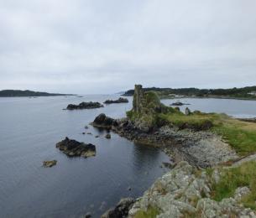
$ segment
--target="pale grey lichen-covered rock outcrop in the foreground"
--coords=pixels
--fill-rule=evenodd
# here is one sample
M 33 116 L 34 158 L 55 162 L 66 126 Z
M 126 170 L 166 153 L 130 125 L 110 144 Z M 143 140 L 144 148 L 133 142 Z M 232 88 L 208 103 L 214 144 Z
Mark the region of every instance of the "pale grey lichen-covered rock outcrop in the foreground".
M 196 172 L 189 163 L 178 163 L 137 200 L 129 210 L 129 217 L 150 207 L 157 208 L 159 218 L 256 217 L 253 210 L 244 208 L 238 200 L 248 194 L 248 189 L 239 188 L 232 198 L 217 202 L 210 195 L 212 178 L 204 170 L 201 174 Z

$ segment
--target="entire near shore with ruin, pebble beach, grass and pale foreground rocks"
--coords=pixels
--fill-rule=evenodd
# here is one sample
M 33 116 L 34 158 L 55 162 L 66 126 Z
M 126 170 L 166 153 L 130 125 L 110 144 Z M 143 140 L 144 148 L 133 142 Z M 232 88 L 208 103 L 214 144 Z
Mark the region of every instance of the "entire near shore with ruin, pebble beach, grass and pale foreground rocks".
M 138 85 L 127 117 L 100 114 L 91 122 L 159 147 L 175 161 L 124 217 L 256 217 L 256 125 L 185 111 L 163 105 L 155 92 Z M 117 210 L 120 205 L 102 217 L 115 217 L 111 214 Z

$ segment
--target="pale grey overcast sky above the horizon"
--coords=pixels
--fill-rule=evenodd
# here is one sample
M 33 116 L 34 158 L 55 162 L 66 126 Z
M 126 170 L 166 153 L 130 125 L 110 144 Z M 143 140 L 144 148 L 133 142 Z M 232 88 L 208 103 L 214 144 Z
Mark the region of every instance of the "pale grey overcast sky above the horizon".
M 256 85 L 255 0 L 0 0 L 0 90 Z

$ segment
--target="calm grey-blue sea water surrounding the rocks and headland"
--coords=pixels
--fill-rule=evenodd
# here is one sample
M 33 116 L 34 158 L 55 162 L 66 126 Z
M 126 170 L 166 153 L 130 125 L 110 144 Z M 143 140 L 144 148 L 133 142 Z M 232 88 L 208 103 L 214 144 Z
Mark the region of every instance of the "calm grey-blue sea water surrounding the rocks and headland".
M 138 197 L 164 174 L 169 158 L 156 148 L 136 145 L 112 133 L 84 127 L 101 112 L 124 117 L 131 106 L 63 111 L 69 103 L 105 101 L 118 96 L 0 98 L 0 216 L 97 217 L 122 197 Z M 164 100 L 170 104 L 175 100 Z M 181 99 L 192 110 L 256 117 L 256 101 Z M 181 107 L 182 110 L 185 106 Z M 91 132 L 92 135 L 82 135 Z M 100 135 L 100 138 L 95 138 Z M 55 148 L 65 136 L 97 146 L 94 158 L 67 158 Z M 51 169 L 42 161 L 57 159 Z M 132 190 L 129 191 L 128 187 Z

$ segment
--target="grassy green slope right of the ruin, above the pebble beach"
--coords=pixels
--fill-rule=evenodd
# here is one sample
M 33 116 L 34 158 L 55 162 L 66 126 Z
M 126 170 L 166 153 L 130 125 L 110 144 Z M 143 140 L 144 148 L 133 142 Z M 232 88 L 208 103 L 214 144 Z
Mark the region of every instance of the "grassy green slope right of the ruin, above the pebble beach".
M 209 127 L 210 131 L 222 136 L 222 139 L 240 155 L 256 152 L 256 123 L 239 121 L 217 113 L 196 112 L 185 116 L 181 112 L 171 112 L 158 116 L 162 122 L 164 120 L 180 128 L 203 130 Z

